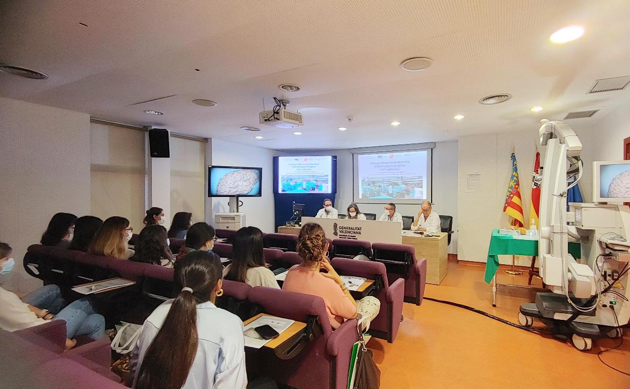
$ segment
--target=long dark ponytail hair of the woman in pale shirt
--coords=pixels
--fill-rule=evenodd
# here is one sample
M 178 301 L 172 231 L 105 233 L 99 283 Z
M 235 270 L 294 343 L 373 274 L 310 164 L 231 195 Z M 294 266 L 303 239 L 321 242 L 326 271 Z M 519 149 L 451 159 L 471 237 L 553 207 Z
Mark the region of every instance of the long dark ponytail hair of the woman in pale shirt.
M 175 264 L 176 290 L 190 287 L 193 291 L 181 291 L 171 304 L 144 355 L 136 389 L 179 389 L 184 385 L 197 354 L 197 305 L 214 301 L 221 269 L 221 261 L 204 251 L 190 253 Z

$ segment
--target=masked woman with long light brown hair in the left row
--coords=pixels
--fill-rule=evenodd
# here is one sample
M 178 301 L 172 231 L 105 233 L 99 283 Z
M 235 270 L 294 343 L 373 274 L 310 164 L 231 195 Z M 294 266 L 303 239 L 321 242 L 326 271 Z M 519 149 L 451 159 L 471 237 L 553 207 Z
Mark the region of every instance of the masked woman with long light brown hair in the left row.
M 133 233 L 134 229 L 129 226 L 129 220 L 112 216 L 96 231 L 88 252 L 105 257 L 129 259 L 134 255 L 134 250 L 127 247 L 127 242 Z

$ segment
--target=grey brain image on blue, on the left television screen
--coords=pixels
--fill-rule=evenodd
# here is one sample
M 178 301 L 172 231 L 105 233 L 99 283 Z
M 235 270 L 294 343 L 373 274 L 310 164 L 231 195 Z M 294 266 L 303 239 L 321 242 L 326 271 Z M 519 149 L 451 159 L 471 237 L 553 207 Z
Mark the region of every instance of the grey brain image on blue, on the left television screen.
M 260 170 L 247 168 L 210 168 L 210 195 L 260 195 Z

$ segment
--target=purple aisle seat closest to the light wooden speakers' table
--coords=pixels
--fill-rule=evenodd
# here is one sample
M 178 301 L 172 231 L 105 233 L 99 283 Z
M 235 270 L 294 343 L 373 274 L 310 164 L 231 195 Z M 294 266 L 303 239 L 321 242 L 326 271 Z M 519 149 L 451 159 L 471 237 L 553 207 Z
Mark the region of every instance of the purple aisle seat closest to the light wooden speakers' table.
M 372 243 L 372 260 L 382 262 L 387 268 L 387 281 L 391 286 L 399 278 L 404 279 L 404 301 L 421 305 L 427 282 L 427 260 L 416 260 L 411 245 Z

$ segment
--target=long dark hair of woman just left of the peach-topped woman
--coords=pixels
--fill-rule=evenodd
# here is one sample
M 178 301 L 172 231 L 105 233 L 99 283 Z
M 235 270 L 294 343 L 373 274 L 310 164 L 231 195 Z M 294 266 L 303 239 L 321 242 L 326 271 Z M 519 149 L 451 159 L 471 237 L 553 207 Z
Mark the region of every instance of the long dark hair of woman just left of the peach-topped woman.
M 256 227 L 243 227 L 233 238 L 234 258 L 227 271 L 226 279 L 247 282 L 247 270 L 266 266 L 263 257 L 263 231 Z

